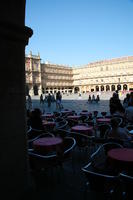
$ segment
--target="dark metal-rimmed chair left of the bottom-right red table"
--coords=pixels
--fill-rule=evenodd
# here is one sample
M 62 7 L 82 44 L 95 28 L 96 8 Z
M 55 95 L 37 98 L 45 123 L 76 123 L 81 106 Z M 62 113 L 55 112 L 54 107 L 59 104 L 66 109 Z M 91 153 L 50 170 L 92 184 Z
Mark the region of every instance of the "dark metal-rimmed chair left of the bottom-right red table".
M 107 152 L 112 148 L 122 148 L 122 146 L 116 143 L 101 145 L 90 156 L 88 164 L 82 168 L 86 177 L 85 197 L 88 189 L 112 199 L 119 191 L 119 173 L 112 170 L 107 162 Z

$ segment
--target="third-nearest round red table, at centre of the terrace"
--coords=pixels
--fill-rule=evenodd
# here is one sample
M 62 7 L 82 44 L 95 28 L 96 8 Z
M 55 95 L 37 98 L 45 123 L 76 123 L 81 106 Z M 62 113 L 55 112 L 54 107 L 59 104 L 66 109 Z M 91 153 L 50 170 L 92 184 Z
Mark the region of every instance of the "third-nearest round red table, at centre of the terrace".
M 79 132 L 79 133 L 83 133 L 83 134 L 87 134 L 87 135 L 93 134 L 92 126 L 77 125 L 77 126 L 73 126 L 71 130 L 74 132 Z

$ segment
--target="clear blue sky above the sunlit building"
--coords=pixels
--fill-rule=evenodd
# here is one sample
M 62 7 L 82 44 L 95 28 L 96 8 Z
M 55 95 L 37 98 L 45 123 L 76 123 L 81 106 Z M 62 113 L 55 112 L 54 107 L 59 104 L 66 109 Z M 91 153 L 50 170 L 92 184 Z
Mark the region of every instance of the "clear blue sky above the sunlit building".
M 83 65 L 133 55 L 133 0 L 27 0 L 26 47 L 43 61 Z

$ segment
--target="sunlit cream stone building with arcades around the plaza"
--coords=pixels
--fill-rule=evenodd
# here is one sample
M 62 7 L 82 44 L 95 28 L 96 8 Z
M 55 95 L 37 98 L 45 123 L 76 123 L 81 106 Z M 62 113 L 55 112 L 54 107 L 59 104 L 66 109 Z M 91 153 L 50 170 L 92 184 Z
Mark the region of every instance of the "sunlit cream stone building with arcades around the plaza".
M 41 63 L 26 56 L 27 93 L 98 92 L 133 89 L 133 56 L 88 63 L 80 67 Z

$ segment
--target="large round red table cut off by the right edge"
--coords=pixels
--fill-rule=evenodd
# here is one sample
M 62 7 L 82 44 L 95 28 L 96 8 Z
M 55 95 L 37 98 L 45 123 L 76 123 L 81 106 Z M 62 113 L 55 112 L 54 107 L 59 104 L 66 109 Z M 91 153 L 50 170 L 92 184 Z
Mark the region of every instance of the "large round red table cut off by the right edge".
M 110 163 L 120 171 L 133 168 L 133 149 L 116 148 L 107 153 Z

